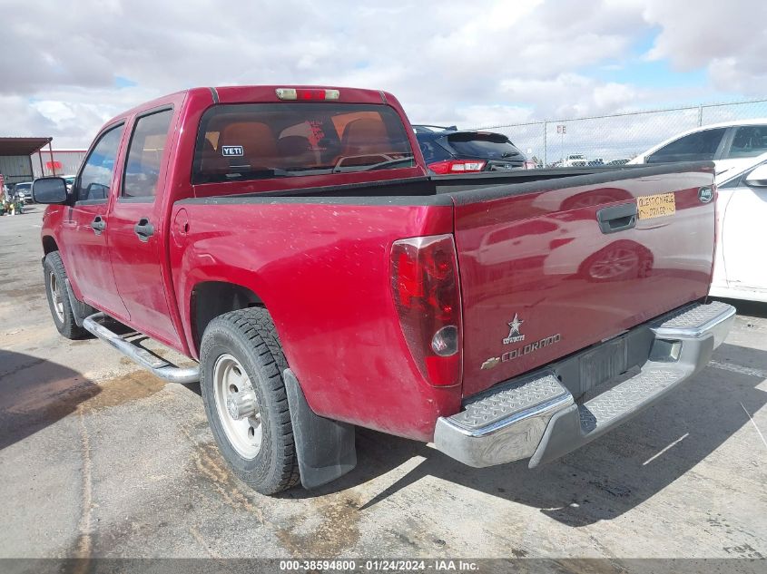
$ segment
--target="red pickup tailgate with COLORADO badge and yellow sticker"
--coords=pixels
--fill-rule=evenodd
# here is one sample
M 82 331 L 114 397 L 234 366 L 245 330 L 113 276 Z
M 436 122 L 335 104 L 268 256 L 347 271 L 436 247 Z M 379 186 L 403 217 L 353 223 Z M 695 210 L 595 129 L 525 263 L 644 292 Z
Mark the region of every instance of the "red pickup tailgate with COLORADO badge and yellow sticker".
M 706 162 L 454 193 L 464 395 L 705 297 L 712 188 Z

